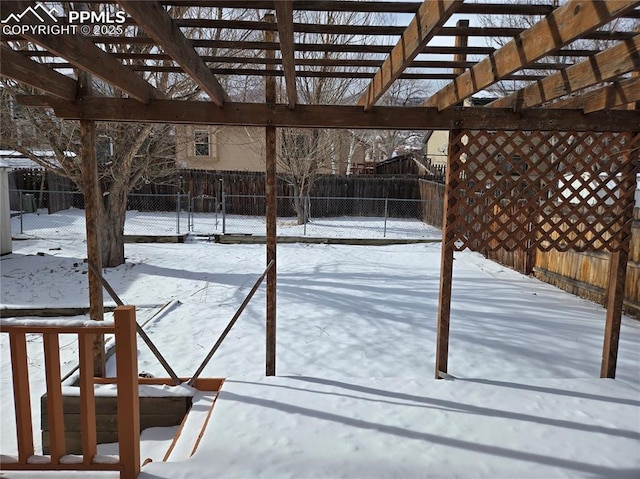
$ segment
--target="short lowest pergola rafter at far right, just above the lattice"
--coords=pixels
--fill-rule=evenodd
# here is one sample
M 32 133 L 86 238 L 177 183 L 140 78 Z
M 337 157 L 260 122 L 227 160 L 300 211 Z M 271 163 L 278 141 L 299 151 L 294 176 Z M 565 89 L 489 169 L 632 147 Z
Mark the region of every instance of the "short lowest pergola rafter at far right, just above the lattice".
M 640 77 L 627 78 L 580 96 L 551 103 L 551 108 L 580 108 L 585 113 L 640 101 Z

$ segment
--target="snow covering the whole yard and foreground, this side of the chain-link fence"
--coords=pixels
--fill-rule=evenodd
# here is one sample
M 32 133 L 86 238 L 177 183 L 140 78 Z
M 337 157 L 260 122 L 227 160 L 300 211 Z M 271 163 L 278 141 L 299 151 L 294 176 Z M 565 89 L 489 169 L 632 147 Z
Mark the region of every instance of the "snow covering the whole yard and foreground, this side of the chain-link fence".
M 2 305 L 86 305 L 85 248 L 14 242 L 0 258 Z M 128 244 L 126 256 L 105 278 L 143 306 L 140 322 L 180 302 L 145 329 L 184 376 L 265 266 L 263 245 Z M 155 462 L 141 477 L 638 477 L 640 323 L 623 320 L 617 379 L 597 379 L 602 307 L 476 253 L 455 258 L 449 372 L 460 379 L 435 381 L 439 244 L 280 245 L 278 377 L 263 377 L 262 286 L 204 372 L 230 379 L 200 448 L 161 463 L 173 430 L 146 431 L 142 455 Z M 64 374 L 77 348 L 61 344 Z M 39 338 L 29 351 L 39 404 Z M 139 361 L 166 375 L 142 342 Z M 9 364 L 0 335 L 3 412 Z M 0 420 L 0 452 L 15 453 L 13 418 Z

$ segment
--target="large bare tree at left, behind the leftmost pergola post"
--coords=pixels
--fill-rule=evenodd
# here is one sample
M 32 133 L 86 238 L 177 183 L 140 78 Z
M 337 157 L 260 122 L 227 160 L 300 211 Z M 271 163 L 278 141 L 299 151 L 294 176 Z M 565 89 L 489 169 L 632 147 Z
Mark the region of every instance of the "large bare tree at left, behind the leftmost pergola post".
M 68 5 L 65 8 L 69 8 Z M 90 4 L 90 8 L 117 8 L 115 5 Z M 173 18 L 198 18 L 205 11 L 197 8 L 172 6 L 169 14 Z M 244 10 L 214 9 L 217 16 L 234 12 L 239 17 L 246 16 Z M 137 27 L 127 26 L 129 35 L 137 35 Z M 200 33 L 198 33 L 200 32 Z M 203 33 L 206 32 L 206 33 Z M 220 39 L 220 29 L 194 29 L 193 35 L 208 35 L 211 39 Z M 238 32 L 238 35 L 247 33 Z M 191 34 L 190 34 L 191 35 Z M 227 33 L 227 35 L 230 35 Z M 229 37 L 227 37 L 229 39 Z M 23 42 L 22 48 L 34 48 Z M 142 60 L 142 54 L 154 53 L 152 45 L 134 43 L 106 45 L 110 53 L 126 54 L 123 62 L 135 66 Z M 123 50 L 126 48 L 126 51 Z M 232 55 L 234 52 L 219 52 L 210 49 L 211 56 Z M 157 60 L 157 71 L 146 73 L 145 80 L 171 98 L 196 98 L 201 92 L 186 75 L 172 71 L 171 61 Z M 229 85 L 227 91 L 238 91 L 237 79 L 225 78 Z M 235 82 L 235 83 L 234 83 Z M 243 91 L 252 93 L 256 86 L 246 84 Z M 96 94 L 112 97 L 124 94 L 111 86 L 94 80 Z M 17 107 L 15 96 L 32 94 L 31 88 L 3 79 L 1 84 L 1 128 L 2 143 L 60 176 L 69 178 L 82 191 L 82 161 L 79 141 L 79 124 L 74 121 L 57 119 L 51 111 L 21 109 Z M 124 223 L 126 217 L 127 196 L 141 185 L 154 182 L 175 182 L 175 150 L 188 141 L 176 134 L 171 125 L 98 123 L 99 182 L 103 201 L 98 205 L 101 223 L 101 254 L 105 267 L 114 267 L 124 263 Z M 39 152 L 48 151 L 50 155 Z

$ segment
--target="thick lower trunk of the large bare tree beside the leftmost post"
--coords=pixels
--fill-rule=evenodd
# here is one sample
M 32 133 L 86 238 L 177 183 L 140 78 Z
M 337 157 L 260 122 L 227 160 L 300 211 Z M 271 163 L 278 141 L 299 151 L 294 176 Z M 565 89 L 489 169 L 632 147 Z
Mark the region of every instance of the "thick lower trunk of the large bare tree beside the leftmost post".
M 111 192 L 102 218 L 102 266 L 114 268 L 124 263 L 124 221 L 127 213 L 126 193 Z

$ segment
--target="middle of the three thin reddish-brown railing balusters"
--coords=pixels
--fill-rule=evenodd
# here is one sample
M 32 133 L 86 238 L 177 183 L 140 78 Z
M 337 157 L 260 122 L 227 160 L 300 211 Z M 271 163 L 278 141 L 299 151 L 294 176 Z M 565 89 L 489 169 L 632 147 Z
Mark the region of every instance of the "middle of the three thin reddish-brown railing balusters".
M 51 462 L 58 464 L 60 458 L 66 454 L 58 333 L 44 333 L 43 343 L 47 381 L 47 415 L 49 416 L 49 451 Z

